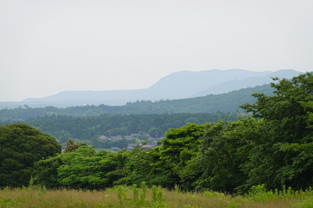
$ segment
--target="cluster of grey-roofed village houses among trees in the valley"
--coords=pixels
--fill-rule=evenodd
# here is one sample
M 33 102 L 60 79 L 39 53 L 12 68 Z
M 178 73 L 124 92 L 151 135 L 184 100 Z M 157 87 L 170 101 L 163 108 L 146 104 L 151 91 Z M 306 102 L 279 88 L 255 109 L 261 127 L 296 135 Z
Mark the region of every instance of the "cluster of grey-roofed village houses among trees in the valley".
M 125 138 L 126 140 L 132 140 L 132 139 L 136 139 L 140 136 L 140 134 L 130 134 L 130 135 L 127 135 L 127 136 L 121 136 L 121 135 L 118 135 L 118 136 L 104 136 L 104 135 L 100 135 L 98 136 L 98 139 L 99 140 L 102 140 L 102 141 L 105 141 L 105 140 L 110 140 L 112 142 L 115 142 L 115 141 L 118 141 L 118 140 L 121 140 L 123 138 Z M 148 149 L 151 149 L 153 148 L 154 146 L 157 145 L 157 142 L 160 142 L 161 140 L 165 139 L 165 137 L 159 137 L 159 138 L 153 138 L 151 137 L 151 135 L 147 135 L 148 136 L 148 139 L 152 141 L 152 144 L 151 145 L 142 145 L 142 144 L 127 144 L 126 146 L 126 149 L 127 150 L 131 150 L 131 149 L 134 149 L 135 146 L 140 146 L 141 148 L 143 148 L 144 150 L 148 150 Z M 111 151 L 111 152 L 118 152 L 120 151 L 120 148 L 119 147 L 115 147 L 115 146 L 112 146 L 110 148 L 110 150 L 108 151 Z

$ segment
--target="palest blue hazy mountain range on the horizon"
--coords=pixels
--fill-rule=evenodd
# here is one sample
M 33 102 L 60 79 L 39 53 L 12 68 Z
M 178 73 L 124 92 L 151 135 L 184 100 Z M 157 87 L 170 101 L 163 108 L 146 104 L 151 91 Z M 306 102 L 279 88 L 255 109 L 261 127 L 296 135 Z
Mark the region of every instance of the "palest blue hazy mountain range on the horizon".
M 193 98 L 208 94 L 222 94 L 246 87 L 272 82 L 270 77 L 287 78 L 301 72 L 285 69 L 276 72 L 254 72 L 242 69 L 180 71 L 161 78 L 146 89 L 110 90 L 110 91 L 64 91 L 45 98 L 27 98 L 22 102 L 1 102 L 2 108 L 56 106 L 67 107 L 85 104 L 123 105 L 137 100 L 158 101 Z M 129 81 L 131 82 L 131 80 Z

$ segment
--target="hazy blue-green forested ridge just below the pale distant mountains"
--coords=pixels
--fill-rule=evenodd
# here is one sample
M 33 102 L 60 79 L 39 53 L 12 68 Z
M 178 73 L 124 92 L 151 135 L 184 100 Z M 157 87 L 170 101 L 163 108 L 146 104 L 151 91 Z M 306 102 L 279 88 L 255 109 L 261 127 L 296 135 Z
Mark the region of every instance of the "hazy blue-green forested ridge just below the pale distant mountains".
M 273 88 L 269 84 L 256 87 L 248 87 L 235 90 L 220 95 L 207 95 L 204 97 L 178 99 L 178 100 L 160 100 L 158 102 L 137 101 L 127 103 L 122 106 L 109 106 L 100 104 L 86 106 L 72 106 L 67 108 L 43 107 L 30 108 L 27 105 L 15 109 L 1 109 L 0 121 L 23 121 L 29 117 L 45 115 L 71 115 L 71 116 L 91 116 L 103 113 L 110 114 L 162 114 L 162 113 L 212 113 L 217 111 L 236 112 L 242 111 L 239 105 L 252 104 L 256 98 L 251 96 L 253 93 L 265 93 L 272 95 Z

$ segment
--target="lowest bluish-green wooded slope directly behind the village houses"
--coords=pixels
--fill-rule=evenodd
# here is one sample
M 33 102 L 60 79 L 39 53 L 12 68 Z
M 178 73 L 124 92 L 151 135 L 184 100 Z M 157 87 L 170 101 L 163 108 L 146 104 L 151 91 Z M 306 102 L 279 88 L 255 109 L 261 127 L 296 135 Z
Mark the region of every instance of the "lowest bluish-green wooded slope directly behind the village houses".
M 228 118 L 236 121 L 245 113 L 177 113 L 177 114 L 101 114 L 99 116 L 73 117 L 54 114 L 43 117 L 28 118 L 23 123 L 57 138 L 63 146 L 69 138 L 75 138 L 97 148 L 106 147 L 97 139 L 99 135 L 115 136 L 128 135 L 130 133 L 145 132 L 152 137 L 161 137 L 169 128 L 178 128 L 187 123 L 204 124 L 217 122 L 219 119 Z M 0 122 L 0 125 L 11 122 Z M 127 145 L 127 143 L 126 143 Z M 124 144 L 117 145 L 124 148 Z M 110 146 L 109 146 L 110 147 Z

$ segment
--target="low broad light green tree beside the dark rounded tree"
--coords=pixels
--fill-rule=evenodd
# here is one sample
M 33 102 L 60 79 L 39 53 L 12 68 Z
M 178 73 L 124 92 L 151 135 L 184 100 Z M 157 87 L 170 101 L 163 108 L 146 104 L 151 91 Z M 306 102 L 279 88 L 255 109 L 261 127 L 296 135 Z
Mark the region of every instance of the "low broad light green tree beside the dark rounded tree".
M 48 188 L 101 189 L 112 186 L 118 161 L 111 152 L 95 152 L 90 146 L 36 163 L 33 181 Z M 111 174 L 108 174 L 111 173 Z

